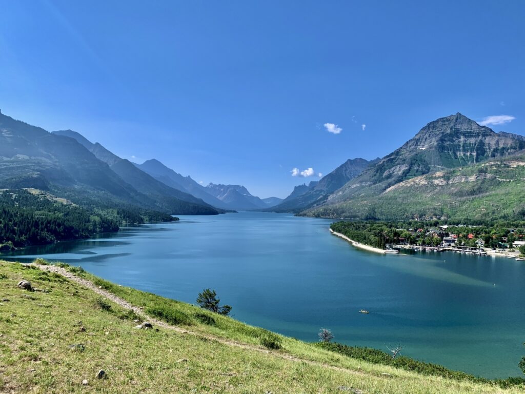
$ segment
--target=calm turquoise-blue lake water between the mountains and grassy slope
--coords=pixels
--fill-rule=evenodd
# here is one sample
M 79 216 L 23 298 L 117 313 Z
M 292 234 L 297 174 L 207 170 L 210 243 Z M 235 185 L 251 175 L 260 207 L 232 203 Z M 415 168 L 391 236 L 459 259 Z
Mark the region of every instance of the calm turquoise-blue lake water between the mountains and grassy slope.
M 489 378 L 520 376 L 525 262 L 454 253 L 379 255 L 331 235 L 331 221 L 241 212 L 180 216 L 87 241 L 33 247 L 109 281 L 195 303 L 216 289 L 232 315 L 307 341 L 403 354 Z M 23 258 L 22 258 L 23 257 Z M 496 286 L 494 285 L 496 284 Z M 358 313 L 370 310 L 369 315 Z

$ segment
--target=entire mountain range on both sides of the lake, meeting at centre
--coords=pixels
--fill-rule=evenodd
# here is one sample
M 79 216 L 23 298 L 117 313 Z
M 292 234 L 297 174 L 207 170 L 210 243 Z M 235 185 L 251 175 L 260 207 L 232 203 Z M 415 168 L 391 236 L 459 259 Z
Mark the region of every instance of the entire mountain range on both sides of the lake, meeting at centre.
M 349 219 L 525 219 L 525 137 L 461 113 L 429 122 L 372 161 L 349 159 L 290 195 L 204 186 L 151 159 L 118 157 L 72 130 L 48 132 L 0 112 L 0 188 L 46 191 L 79 205 L 122 204 L 169 214 L 233 210 Z

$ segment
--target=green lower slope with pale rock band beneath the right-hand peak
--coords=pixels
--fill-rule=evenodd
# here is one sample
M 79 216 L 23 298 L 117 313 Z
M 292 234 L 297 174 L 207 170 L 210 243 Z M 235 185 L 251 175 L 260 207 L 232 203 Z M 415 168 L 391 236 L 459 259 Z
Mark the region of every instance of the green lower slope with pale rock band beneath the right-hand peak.
M 421 175 L 304 212 L 323 217 L 472 221 L 525 218 L 525 156 Z

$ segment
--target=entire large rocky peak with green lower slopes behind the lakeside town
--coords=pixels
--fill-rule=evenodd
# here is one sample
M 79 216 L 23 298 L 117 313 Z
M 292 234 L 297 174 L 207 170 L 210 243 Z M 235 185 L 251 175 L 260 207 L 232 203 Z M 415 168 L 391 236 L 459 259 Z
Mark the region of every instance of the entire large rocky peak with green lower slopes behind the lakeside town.
M 496 133 L 456 113 L 429 122 L 402 147 L 299 214 L 522 220 L 524 149 L 523 136 Z

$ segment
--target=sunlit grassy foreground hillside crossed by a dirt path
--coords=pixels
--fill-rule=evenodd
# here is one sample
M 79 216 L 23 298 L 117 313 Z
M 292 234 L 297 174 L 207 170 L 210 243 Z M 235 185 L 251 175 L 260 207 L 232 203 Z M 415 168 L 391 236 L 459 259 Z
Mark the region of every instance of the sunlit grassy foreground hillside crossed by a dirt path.
M 36 266 L 0 262 L 4 298 L 0 302 L 1 392 L 401 394 L 523 390 L 371 364 L 348 357 L 344 354 L 348 349 L 323 349 L 192 305 L 114 285 L 79 268 L 71 271 L 81 279 Z M 62 274 L 71 276 L 65 270 Z M 18 288 L 22 279 L 43 291 Z M 109 298 L 116 299 L 114 295 L 121 297 L 121 305 L 124 300 L 136 305 L 136 313 L 112 302 Z M 144 319 L 137 313 L 154 315 L 173 325 L 153 321 L 154 329 L 137 329 L 133 320 Z M 280 348 L 268 349 L 279 347 L 272 346 L 275 344 Z M 100 369 L 106 371 L 106 379 L 96 378 Z M 87 385 L 82 384 L 84 379 Z

